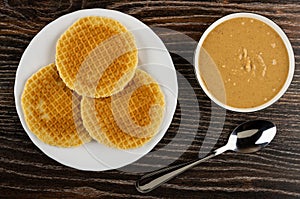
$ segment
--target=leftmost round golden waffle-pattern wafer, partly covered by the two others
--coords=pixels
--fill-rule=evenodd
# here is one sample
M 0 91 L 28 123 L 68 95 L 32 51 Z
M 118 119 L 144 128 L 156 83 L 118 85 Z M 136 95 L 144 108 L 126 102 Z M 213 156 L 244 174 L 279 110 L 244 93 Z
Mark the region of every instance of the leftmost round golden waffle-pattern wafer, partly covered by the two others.
M 72 147 L 91 140 L 82 123 L 80 101 L 50 64 L 27 80 L 21 103 L 27 126 L 41 141 Z

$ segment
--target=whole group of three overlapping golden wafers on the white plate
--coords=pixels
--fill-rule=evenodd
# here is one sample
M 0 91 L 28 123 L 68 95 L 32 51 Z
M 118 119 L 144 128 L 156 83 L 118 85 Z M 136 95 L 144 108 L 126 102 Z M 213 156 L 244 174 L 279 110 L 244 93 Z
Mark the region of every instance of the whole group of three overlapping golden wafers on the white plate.
M 92 138 L 109 147 L 141 147 L 158 132 L 164 95 L 136 69 L 138 51 L 120 22 L 99 16 L 78 19 L 58 39 L 55 64 L 26 82 L 22 108 L 41 141 L 79 146 Z

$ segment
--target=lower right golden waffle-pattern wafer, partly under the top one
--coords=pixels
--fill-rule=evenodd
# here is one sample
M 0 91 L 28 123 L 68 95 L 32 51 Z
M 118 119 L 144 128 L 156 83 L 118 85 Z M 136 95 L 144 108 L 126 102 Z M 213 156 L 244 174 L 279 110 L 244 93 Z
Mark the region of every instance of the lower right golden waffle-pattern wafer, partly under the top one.
M 121 92 L 107 98 L 83 97 L 81 114 L 90 135 L 108 146 L 130 149 L 144 145 L 159 130 L 165 109 L 158 83 L 137 70 Z

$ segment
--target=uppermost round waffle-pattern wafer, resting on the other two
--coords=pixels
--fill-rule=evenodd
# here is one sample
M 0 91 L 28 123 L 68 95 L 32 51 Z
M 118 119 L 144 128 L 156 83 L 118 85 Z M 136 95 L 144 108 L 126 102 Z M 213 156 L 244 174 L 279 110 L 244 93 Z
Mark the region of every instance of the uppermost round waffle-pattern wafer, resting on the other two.
M 118 21 L 99 16 L 77 20 L 59 38 L 56 66 L 66 85 L 88 97 L 107 97 L 133 78 L 134 37 Z

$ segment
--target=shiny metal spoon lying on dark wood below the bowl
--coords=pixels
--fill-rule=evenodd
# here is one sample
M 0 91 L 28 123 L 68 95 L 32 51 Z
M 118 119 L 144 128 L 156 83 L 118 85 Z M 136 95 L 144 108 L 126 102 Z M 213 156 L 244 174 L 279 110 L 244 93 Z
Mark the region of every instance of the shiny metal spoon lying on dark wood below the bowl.
M 267 146 L 275 134 L 276 126 L 272 122 L 265 120 L 245 122 L 232 131 L 225 146 L 216 149 L 205 158 L 150 172 L 137 180 L 136 189 L 141 193 L 152 191 L 178 174 L 228 150 L 240 153 L 256 152 Z

